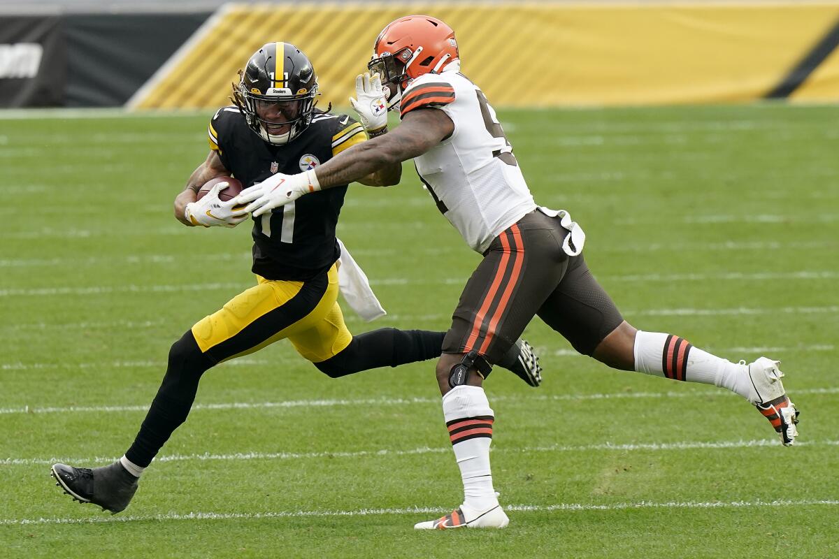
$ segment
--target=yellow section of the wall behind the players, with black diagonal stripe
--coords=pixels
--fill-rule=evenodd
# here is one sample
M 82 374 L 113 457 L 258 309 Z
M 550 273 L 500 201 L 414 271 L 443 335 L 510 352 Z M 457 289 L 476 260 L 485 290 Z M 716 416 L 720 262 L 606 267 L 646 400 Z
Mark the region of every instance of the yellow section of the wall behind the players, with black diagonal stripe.
M 347 104 L 378 31 L 406 13 L 450 23 L 462 70 L 503 106 L 839 101 L 839 4 L 228 4 L 138 91 L 138 109 L 227 103 L 263 43 L 309 55 Z

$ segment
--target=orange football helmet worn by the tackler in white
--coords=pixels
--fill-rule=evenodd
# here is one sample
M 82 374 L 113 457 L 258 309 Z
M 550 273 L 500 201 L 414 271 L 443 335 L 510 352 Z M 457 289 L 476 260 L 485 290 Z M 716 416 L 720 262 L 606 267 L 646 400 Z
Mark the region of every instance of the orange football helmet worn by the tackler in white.
M 430 16 L 406 16 L 388 23 L 378 34 L 367 69 L 371 74 L 378 72 L 383 85 L 396 86 L 388 98 L 388 108 L 392 108 L 394 98 L 399 101 L 410 80 L 435 74 L 458 56 L 455 32 L 446 23 Z

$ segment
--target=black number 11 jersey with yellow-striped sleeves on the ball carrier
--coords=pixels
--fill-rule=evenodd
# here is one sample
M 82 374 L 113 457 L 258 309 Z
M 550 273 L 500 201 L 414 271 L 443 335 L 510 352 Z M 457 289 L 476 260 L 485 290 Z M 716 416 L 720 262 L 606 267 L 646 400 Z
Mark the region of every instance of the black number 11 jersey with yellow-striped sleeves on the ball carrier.
M 282 146 L 258 137 L 235 106 L 212 117 L 210 148 L 245 188 L 274 173 L 296 174 L 367 139 L 362 125 L 348 115 L 315 111 L 300 136 Z M 324 272 L 341 252 L 335 228 L 347 184 L 294 200 L 253 220 L 253 272 L 272 280 L 305 281 Z

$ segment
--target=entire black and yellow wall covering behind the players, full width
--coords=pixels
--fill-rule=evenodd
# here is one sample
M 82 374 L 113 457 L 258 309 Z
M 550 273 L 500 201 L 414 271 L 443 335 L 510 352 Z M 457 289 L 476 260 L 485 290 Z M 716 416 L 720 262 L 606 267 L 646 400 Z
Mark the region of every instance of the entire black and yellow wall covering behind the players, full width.
M 464 73 L 498 106 L 839 101 L 836 0 L 232 3 L 17 24 L 0 14 L 0 106 L 224 105 L 237 70 L 272 40 L 304 49 L 324 101 L 345 106 L 376 34 L 405 13 L 451 23 Z M 16 45 L 34 43 L 50 54 L 22 77 L 32 50 Z

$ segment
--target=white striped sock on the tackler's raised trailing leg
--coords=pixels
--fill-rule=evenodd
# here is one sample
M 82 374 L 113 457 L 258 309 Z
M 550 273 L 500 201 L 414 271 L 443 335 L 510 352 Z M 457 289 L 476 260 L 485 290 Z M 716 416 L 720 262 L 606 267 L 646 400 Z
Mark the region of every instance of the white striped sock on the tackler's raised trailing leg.
M 638 330 L 635 334 L 635 370 L 669 379 L 721 386 L 749 401 L 757 397 L 747 365 L 711 355 L 672 334 Z

